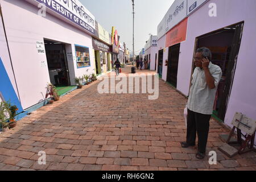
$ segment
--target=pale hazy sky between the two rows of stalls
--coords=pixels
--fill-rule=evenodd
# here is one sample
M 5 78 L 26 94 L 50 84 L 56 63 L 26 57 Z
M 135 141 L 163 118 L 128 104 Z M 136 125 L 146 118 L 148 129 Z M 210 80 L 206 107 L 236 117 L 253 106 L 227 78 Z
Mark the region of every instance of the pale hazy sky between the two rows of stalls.
M 120 42 L 133 50 L 133 6 L 131 0 L 80 0 L 97 22 L 111 34 L 118 31 Z M 134 52 L 139 53 L 150 38 L 157 35 L 158 24 L 174 0 L 134 0 Z

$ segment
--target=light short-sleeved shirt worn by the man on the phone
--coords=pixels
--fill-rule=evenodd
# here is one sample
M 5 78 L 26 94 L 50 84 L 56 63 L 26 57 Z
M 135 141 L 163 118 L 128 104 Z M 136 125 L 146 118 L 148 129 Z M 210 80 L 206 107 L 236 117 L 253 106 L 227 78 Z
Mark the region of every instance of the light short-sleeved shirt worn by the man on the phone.
M 188 109 L 196 113 L 212 114 L 218 83 L 220 82 L 222 71 L 215 64 L 209 63 L 210 75 L 214 78 L 215 88 L 210 89 L 207 85 L 204 69 L 195 68 L 192 75 L 191 89 L 188 97 Z

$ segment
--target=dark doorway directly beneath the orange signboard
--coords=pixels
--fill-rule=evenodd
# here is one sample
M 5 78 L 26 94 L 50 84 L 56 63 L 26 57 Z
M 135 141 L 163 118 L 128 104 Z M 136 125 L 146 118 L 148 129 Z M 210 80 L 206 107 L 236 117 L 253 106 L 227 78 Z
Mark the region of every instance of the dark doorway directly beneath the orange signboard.
M 167 82 L 177 88 L 177 71 L 179 66 L 180 44 L 169 47 Z

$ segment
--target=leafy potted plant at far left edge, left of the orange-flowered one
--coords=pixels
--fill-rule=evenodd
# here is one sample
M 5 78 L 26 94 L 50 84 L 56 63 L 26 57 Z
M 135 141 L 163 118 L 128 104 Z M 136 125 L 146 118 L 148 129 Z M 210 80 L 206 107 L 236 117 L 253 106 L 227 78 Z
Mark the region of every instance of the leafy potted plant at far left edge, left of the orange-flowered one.
M 10 111 L 10 104 L 9 102 L 2 101 L 0 104 L 0 124 L 2 131 L 8 131 L 9 130 L 9 123 L 8 119 L 10 118 L 11 111 Z

